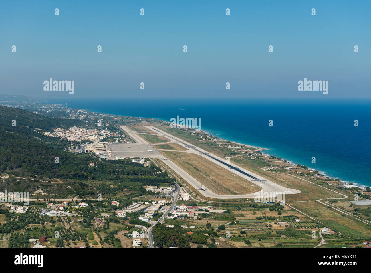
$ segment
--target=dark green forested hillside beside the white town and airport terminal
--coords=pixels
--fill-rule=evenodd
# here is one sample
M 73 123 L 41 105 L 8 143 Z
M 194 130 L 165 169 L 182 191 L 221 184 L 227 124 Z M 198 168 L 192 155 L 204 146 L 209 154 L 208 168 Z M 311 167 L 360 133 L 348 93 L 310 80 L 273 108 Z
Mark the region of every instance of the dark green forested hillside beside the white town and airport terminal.
M 111 194 L 127 185 L 125 188 L 135 190 L 141 195 L 145 192 L 142 185 L 173 182 L 166 172 L 158 174 L 161 169 L 155 166 L 144 167 L 139 163 L 121 160 L 99 161 L 98 158 L 88 154 L 75 155 L 63 151 L 65 141 L 41 135 L 37 130 L 39 128 L 49 131 L 55 127 L 74 126 L 78 125 L 78 121 L 47 118 L 5 106 L 0 106 L 0 113 L 0 172 L 18 177 L 41 176 L 78 181 L 105 181 L 114 187 L 105 187 L 105 183 L 102 183 L 98 189 L 109 189 Z M 16 119 L 14 127 L 12 119 Z M 55 157 L 59 158 L 58 164 L 55 163 Z M 96 167 L 89 167 L 91 162 L 98 164 Z M 9 181 L 3 181 L 3 186 L 9 187 L 10 184 Z M 116 187 L 116 184 L 121 186 Z M 25 185 L 22 184 L 22 187 Z M 16 189 L 15 185 L 11 188 Z

